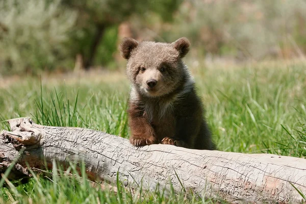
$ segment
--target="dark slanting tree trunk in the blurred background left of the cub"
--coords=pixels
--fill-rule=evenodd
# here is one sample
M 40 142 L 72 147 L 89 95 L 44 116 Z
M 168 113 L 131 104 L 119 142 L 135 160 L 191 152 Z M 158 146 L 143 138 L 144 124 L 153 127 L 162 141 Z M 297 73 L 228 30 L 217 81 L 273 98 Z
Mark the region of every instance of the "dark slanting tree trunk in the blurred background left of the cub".
M 88 59 L 86 60 L 86 62 L 84 64 L 84 67 L 85 67 L 86 70 L 88 70 L 92 66 L 94 57 L 95 57 L 96 52 L 97 52 L 98 45 L 100 44 L 100 41 L 101 41 L 101 39 L 104 35 L 105 28 L 106 27 L 103 24 L 97 24 L 96 25 L 96 32 L 95 32 L 93 42 L 92 42 L 92 44 L 90 46 L 90 49 L 89 49 L 89 56 L 88 56 Z

